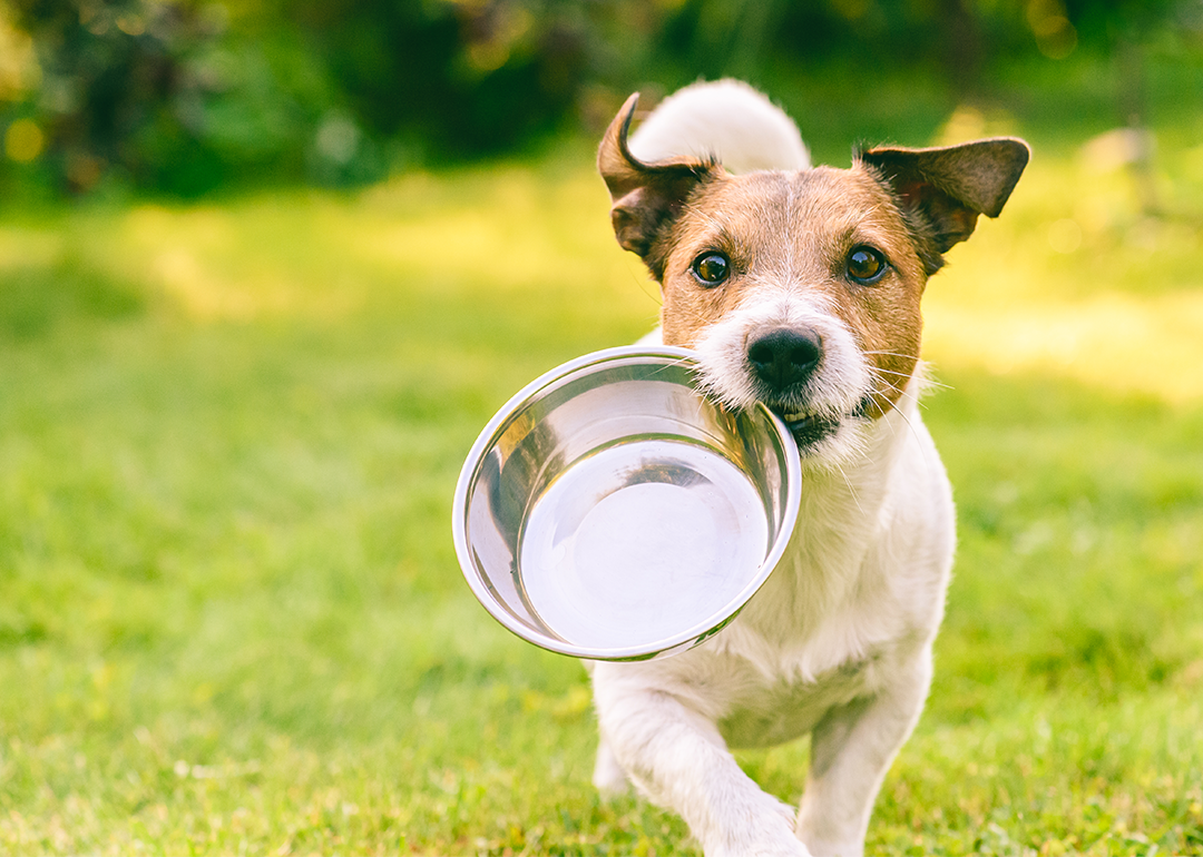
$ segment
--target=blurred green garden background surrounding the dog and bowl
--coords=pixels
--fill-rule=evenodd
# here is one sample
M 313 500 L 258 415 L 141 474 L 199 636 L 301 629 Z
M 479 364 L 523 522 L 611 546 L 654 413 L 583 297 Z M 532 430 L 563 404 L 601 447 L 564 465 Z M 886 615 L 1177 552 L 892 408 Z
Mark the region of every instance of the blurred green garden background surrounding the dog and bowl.
M 723 75 L 818 162 L 1035 151 L 924 297 L 959 550 L 867 851 L 1203 855 L 1203 0 L 0 0 L 0 852 L 697 853 L 449 518 L 656 322 L 602 130 Z

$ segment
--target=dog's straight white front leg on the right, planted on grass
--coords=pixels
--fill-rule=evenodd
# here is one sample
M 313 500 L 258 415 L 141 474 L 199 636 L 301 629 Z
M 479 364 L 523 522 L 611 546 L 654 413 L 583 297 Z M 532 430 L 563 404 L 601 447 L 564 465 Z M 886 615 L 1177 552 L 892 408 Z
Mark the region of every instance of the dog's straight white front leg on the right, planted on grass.
M 816 857 L 860 857 L 885 772 L 914 728 L 931 683 L 931 650 L 883 691 L 829 712 L 811 734 L 798 837 Z

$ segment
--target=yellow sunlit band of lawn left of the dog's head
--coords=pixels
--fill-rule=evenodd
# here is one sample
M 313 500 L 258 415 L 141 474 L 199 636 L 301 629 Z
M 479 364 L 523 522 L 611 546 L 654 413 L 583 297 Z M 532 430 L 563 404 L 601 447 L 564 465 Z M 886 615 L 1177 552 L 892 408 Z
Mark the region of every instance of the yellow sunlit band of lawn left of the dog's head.
M 611 251 L 606 200 L 586 169 L 511 166 L 417 173 L 357 195 L 146 203 L 0 227 L 0 270 L 71 254 L 197 321 L 330 320 L 466 293 L 518 309 L 575 293 L 598 311 L 641 309 L 651 323 L 654 291 Z

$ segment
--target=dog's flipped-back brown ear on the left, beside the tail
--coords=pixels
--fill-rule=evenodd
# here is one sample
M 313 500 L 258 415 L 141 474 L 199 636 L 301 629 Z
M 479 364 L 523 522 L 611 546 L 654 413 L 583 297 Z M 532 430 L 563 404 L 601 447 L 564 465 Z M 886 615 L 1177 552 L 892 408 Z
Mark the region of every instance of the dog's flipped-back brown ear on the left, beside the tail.
M 635 93 L 610 123 L 598 149 L 598 172 L 610 189 L 610 222 L 623 250 L 638 254 L 657 280 L 664 279 L 668 248 L 659 240 L 681 214 L 689 194 L 719 169 L 716 161 L 672 157 L 644 163 L 630 154 L 627 132 Z

